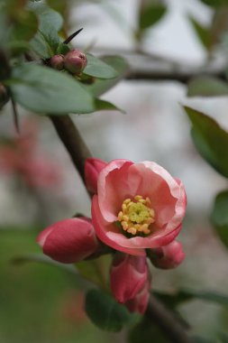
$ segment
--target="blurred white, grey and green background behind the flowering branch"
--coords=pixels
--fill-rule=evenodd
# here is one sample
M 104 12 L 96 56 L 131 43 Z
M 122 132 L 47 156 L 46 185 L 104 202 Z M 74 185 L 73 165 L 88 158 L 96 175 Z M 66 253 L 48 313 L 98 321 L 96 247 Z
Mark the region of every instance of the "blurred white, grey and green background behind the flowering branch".
M 189 20 L 208 25 L 212 9 L 197 0 L 163 3 L 166 13 L 136 41 L 139 0 L 66 1 L 68 33 L 84 28 L 73 46 L 123 55 L 132 70 L 143 72 L 157 65 L 191 70 L 214 60 L 215 66 L 223 64 L 225 34 L 219 49 L 208 53 Z M 176 80 L 136 78 L 121 81 L 103 98 L 126 114 L 72 116 L 93 155 L 106 162 L 155 161 L 186 186 L 187 218 L 179 239 L 187 257 L 177 270 L 154 269 L 153 288 L 227 292 L 227 251 L 208 220 L 214 196 L 226 182 L 196 152 L 181 107 L 204 110 L 227 129 L 227 97 L 189 99 L 186 85 Z M 20 109 L 22 136 L 14 138 L 11 112 L 7 106 L 0 117 L 2 142 L 10 142 L 8 150 L 0 147 L 0 342 L 114 342 L 116 335 L 87 320 L 73 275 L 49 265 L 11 263 L 16 256 L 40 252 L 35 237 L 42 228 L 74 213 L 90 216 L 87 192 L 49 119 Z M 202 336 L 213 339 L 227 328 L 228 311 L 218 305 L 191 301 L 178 310 Z M 118 339 L 124 342 L 124 335 Z

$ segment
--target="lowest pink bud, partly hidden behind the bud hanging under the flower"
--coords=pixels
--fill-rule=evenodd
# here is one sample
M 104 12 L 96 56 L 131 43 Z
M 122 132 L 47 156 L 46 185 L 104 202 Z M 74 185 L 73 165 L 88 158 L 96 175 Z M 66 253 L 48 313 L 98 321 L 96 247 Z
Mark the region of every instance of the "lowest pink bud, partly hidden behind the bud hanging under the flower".
M 150 280 L 147 280 L 147 282 L 142 287 L 141 291 L 138 292 L 138 294 L 136 294 L 136 296 L 133 299 L 125 302 L 125 306 L 131 312 L 139 312 L 141 314 L 144 314 L 148 306 L 149 298 Z

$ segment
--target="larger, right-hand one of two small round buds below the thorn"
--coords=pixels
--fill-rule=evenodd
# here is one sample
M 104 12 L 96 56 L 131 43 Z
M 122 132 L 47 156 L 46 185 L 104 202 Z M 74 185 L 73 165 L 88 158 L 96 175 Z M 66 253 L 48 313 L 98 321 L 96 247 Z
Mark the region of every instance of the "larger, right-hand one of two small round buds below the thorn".
M 87 56 L 77 49 L 68 51 L 64 57 L 64 67 L 71 74 L 78 75 L 87 67 Z

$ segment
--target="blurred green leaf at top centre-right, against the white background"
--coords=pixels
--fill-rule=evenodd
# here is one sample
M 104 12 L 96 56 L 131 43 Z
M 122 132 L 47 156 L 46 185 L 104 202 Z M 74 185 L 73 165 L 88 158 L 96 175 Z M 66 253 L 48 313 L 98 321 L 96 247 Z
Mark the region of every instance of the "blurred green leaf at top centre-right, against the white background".
M 165 5 L 153 4 L 142 6 L 139 20 L 140 31 L 148 29 L 150 26 L 158 23 L 166 12 L 167 7 Z

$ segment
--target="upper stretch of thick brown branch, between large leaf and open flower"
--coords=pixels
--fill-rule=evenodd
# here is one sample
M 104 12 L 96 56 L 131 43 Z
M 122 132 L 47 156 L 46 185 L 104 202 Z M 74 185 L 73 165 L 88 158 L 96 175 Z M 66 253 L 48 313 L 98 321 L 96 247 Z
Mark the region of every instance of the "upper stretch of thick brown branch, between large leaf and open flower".
M 69 156 L 82 180 L 85 182 L 84 164 L 86 159 L 91 157 L 91 153 L 81 138 L 76 125 L 74 125 L 69 116 L 50 116 L 50 120 L 59 134 L 59 138 L 68 150 Z

